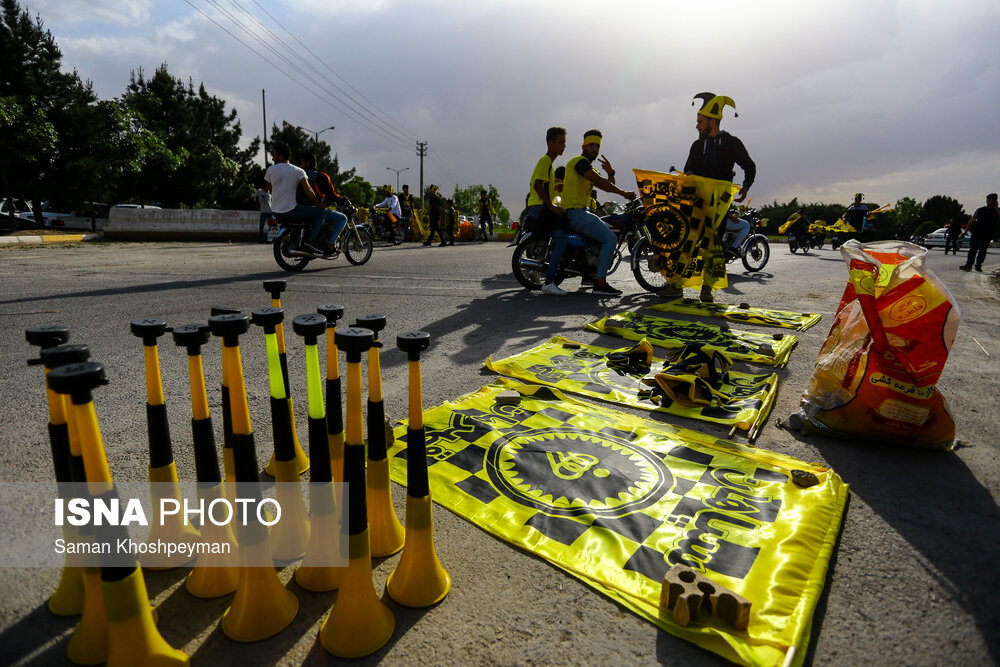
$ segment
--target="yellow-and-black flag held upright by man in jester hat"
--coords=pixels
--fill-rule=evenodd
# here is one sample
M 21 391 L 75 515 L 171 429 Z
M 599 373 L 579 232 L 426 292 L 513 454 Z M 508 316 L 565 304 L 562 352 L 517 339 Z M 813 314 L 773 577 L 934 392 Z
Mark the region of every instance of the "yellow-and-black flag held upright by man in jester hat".
M 726 287 L 719 230 L 739 187 L 702 176 L 632 171 L 646 208 L 650 242 L 667 282 L 677 287 Z

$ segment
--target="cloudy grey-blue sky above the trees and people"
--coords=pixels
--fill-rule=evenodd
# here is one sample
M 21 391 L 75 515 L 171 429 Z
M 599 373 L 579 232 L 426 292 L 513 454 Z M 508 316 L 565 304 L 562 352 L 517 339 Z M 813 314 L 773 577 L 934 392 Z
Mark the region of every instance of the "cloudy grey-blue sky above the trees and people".
M 723 129 L 758 205 L 947 194 L 971 213 L 1000 190 L 997 0 L 21 2 L 101 97 L 167 63 L 249 139 L 265 89 L 268 125 L 335 125 L 322 138 L 369 181 L 405 168 L 415 189 L 426 141 L 425 184 L 493 183 L 515 214 L 550 125 L 562 161 L 600 128 L 634 187 L 630 168 L 683 166 L 702 91 L 736 100 Z

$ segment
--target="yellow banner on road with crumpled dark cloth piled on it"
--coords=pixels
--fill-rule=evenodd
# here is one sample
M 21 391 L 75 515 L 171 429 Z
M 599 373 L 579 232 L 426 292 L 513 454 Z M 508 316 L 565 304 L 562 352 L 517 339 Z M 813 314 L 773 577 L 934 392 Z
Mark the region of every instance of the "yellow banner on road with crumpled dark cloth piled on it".
M 693 407 L 663 400 L 653 402 L 649 386 L 642 380 L 652 377 L 663 365 L 654 358 L 644 370 L 618 370 L 608 366 L 607 355 L 613 350 L 584 345 L 562 336 L 506 359 L 487 359 L 486 368 L 517 380 L 544 384 L 562 391 L 632 408 L 665 412 L 688 419 L 716 424 L 736 425 L 748 430 L 767 419 L 774 405 L 772 394 L 778 391 L 778 375 L 752 375 L 729 371 L 718 387 L 727 401 L 715 406 Z

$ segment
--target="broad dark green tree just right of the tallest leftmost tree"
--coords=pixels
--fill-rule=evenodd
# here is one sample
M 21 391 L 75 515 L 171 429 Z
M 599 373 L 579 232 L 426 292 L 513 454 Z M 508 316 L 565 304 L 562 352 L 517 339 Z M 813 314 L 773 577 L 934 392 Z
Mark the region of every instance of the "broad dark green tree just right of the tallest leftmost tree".
M 166 64 L 149 79 L 141 68 L 133 71 L 122 102 L 144 119 L 177 161 L 176 169 L 161 161 L 126 179 L 140 202 L 250 208 L 260 180 L 260 167 L 253 163 L 260 142 L 239 147 L 242 130 L 235 109 L 226 111 L 225 101 L 209 95 L 204 84 L 196 90 L 192 81 L 174 78 Z

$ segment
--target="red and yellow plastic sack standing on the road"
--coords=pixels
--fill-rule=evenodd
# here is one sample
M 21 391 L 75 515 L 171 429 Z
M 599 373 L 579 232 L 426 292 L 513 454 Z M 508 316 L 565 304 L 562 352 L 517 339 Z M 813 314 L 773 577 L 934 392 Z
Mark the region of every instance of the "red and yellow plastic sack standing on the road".
M 924 266 L 927 250 L 884 241 L 841 247 L 850 280 L 809 388 L 806 423 L 822 433 L 950 448 L 955 422 L 936 384 L 959 310 Z

